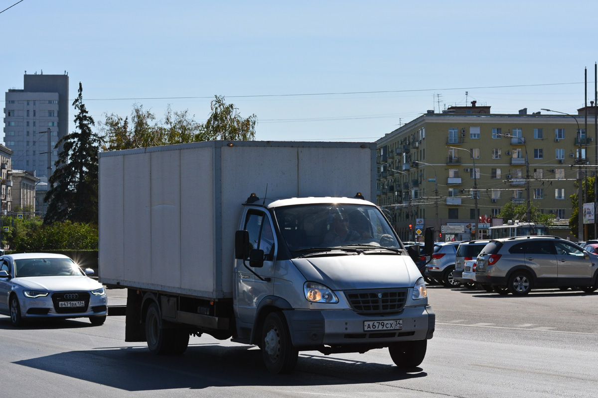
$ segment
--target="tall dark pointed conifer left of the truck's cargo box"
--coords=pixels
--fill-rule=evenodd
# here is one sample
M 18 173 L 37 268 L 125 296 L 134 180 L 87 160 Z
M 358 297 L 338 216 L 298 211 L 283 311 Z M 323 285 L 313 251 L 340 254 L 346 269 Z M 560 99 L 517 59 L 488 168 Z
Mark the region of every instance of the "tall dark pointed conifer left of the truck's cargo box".
M 91 131 L 94 121 L 88 115 L 82 93 L 79 83 L 79 95 L 72 103 L 78 110 L 75 131 L 60 138 L 54 147 L 62 146 L 62 150 L 54 163 L 56 171 L 48 180 L 44 223 L 70 220 L 97 224 L 97 152 L 102 139 Z

